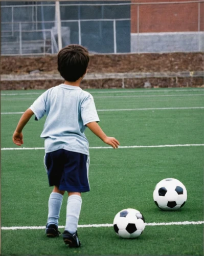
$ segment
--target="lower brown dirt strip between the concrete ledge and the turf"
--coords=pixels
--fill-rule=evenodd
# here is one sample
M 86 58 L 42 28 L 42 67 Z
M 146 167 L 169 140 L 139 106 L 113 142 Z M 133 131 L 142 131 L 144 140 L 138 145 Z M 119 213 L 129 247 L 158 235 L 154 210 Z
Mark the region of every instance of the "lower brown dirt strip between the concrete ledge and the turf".
M 203 86 L 202 77 L 163 77 L 148 78 L 151 88 L 169 87 L 201 87 Z M 127 78 L 127 79 L 97 79 L 83 80 L 82 89 L 114 89 L 114 88 L 144 88 L 146 78 Z M 63 80 L 29 80 L 29 81 L 2 81 L 2 90 L 30 90 L 30 89 L 49 89 L 63 83 Z

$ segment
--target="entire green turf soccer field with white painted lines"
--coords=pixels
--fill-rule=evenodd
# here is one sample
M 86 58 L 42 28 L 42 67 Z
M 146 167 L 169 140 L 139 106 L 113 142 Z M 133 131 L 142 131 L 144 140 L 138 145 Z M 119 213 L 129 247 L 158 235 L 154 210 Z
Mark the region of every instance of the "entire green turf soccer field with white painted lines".
M 24 147 L 29 149 L 15 150 L 12 142 L 20 113 L 43 91 L 2 91 L 1 255 L 203 255 L 203 89 L 88 91 L 100 126 L 121 147 L 107 148 L 88 129 L 85 132 L 91 190 L 82 195 L 82 246 L 77 249 L 44 233 L 52 191 L 40 139 L 45 119 L 32 118 L 25 127 Z M 188 191 L 185 206 L 171 212 L 158 209 L 152 196 L 156 183 L 170 177 L 182 181 Z M 60 231 L 66 201 L 67 195 Z M 147 226 L 138 239 L 121 239 L 111 226 L 125 208 L 138 209 L 145 217 Z

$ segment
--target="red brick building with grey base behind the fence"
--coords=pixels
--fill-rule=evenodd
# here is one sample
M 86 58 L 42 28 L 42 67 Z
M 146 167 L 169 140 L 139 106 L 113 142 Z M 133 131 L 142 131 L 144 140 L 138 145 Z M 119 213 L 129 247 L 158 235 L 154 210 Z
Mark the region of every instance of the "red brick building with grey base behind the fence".
M 131 2 L 131 52 L 203 51 L 204 3 L 161 2 Z

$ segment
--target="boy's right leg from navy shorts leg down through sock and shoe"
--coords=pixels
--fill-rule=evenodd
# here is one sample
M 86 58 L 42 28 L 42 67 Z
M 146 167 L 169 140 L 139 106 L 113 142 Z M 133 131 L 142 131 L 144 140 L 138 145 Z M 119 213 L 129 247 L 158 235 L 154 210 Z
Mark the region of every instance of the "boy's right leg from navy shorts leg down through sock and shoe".
M 66 190 L 69 195 L 66 206 L 65 229 L 62 236 L 65 244 L 69 244 L 70 247 L 79 247 L 81 243 L 78 239 L 77 226 L 82 204 L 81 193 L 90 189 L 88 182 L 89 157 L 71 151 L 67 151 L 66 156 L 64 177 L 59 186 Z

